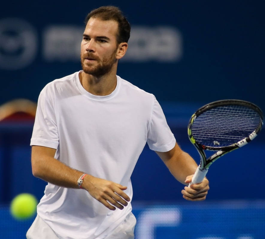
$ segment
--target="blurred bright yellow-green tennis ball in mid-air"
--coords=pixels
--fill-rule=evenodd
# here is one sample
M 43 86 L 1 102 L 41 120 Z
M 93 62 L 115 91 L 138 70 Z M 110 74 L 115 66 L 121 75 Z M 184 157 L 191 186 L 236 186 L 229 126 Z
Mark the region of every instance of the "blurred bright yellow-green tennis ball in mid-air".
M 10 212 L 16 219 L 28 219 L 36 213 L 37 199 L 29 193 L 17 195 L 10 204 Z

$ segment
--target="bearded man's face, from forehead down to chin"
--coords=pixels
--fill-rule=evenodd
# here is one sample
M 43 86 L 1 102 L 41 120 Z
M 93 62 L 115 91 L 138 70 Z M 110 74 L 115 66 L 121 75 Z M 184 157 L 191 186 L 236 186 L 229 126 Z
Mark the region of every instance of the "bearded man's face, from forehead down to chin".
M 90 18 L 81 42 L 81 65 L 85 73 L 96 77 L 110 72 L 117 61 L 118 23 Z

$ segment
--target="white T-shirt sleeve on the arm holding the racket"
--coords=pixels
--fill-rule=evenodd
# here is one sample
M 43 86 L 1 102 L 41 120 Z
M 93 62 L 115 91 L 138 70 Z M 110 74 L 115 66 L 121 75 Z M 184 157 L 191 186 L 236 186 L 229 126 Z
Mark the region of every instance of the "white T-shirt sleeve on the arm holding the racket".
M 161 106 L 154 96 L 154 104 L 150 116 L 147 143 L 151 150 L 167 152 L 174 148 L 176 140 L 166 122 Z

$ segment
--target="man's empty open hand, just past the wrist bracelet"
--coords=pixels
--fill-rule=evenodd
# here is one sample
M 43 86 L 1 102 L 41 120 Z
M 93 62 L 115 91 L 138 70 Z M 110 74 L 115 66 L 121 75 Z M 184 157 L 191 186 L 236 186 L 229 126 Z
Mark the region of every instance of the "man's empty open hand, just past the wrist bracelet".
M 127 189 L 126 186 L 105 179 L 99 179 L 89 174 L 84 178 L 82 187 L 87 190 L 93 198 L 113 211 L 116 209 L 115 207 L 122 210 L 123 206 L 127 206 L 128 202 L 131 200 L 128 195 L 123 192 L 123 190 Z M 109 202 L 115 207 L 110 205 Z

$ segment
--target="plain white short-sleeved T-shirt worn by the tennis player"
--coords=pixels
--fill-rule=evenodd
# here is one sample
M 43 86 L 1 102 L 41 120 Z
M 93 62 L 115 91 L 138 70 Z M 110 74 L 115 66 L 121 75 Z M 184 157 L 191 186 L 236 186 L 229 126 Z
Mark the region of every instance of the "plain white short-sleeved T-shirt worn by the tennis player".
M 31 145 L 57 149 L 54 158 L 95 177 L 127 186 L 146 142 L 155 151 L 175 146 L 155 96 L 117 76 L 107 96 L 87 92 L 79 72 L 54 80 L 40 93 Z M 111 211 L 86 190 L 48 183 L 38 215 L 59 238 L 105 238 L 130 213 Z

